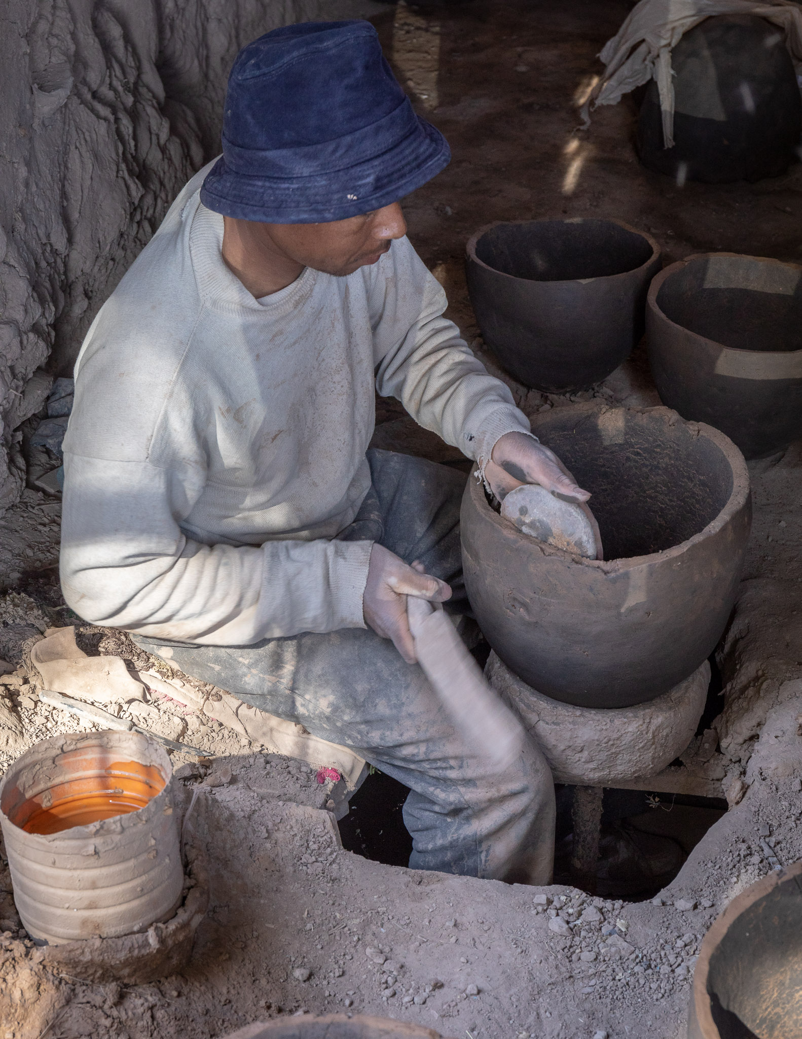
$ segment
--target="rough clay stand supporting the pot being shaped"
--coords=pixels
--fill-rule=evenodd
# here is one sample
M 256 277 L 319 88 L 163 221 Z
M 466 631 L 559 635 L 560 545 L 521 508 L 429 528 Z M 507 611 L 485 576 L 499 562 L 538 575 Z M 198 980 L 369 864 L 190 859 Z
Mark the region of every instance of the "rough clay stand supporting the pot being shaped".
M 683 753 L 704 710 L 711 666 L 647 703 L 594 711 L 531 689 L 490 652 L 485 676 L 520 715 L 551 766 L 555 782 L 614 787 L 656 775 Z

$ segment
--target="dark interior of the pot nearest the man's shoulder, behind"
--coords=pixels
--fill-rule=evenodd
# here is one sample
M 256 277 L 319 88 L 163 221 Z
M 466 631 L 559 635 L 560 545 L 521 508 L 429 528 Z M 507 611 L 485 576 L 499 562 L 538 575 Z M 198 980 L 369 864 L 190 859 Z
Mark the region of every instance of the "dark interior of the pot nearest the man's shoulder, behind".
M 490 228 L 477 240 L 476 256 L 512 277 L 570 282 L 636 270 L 652 246 L 612 220 L 531 220 Z

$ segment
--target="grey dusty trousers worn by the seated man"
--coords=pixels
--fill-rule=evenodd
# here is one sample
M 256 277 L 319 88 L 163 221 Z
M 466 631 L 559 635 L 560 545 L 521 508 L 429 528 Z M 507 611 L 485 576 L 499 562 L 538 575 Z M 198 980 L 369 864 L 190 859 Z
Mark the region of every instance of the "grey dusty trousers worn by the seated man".
M 372 488 L 340 536 L 369 539 L 448 581 L 452 613 L 467 612 L 459 545 L 465 476 L 389 451 L 368 452 Z M 546 884 L 552 879 L 555 803 L 549 766 L 527 739 L 503 773 L 473 753 L 421 668 L 374 632 L 265 639 L 248 646 L 198 646 L 135 637 L 202 682 L 352 747 L 410 788 L 404 823 L 409 865 Z

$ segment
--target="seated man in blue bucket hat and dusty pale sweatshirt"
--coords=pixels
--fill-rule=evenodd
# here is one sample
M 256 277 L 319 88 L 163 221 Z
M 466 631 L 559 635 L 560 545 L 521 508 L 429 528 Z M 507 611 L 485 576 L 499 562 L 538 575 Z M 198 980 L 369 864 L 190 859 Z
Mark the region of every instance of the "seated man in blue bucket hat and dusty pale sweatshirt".
M 406 596 L 467 609 L 464 477 L 366 457 L 378 390 L 497 495 L 524 480 L 588 497 L 442 317 L 404 237 L 398 199 L 449 158 L 367 22 L 277 29 L 239 54 L 222 158 L 78 358 L 61 581 L 87 620 L 411 788 L 410 865 L 547 882 L 539 751 L 494 774 L 415 663 Z

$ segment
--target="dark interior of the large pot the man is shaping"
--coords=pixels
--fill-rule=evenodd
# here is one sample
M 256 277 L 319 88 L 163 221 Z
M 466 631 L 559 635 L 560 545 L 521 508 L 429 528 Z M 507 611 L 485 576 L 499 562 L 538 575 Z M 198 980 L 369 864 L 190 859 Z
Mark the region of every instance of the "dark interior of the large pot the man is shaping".
M 550 427 L 541 438 L 591 491 L 588 504 L 607 562 L 687 541 L 716 518 L 732 492 L 731 467 L 706 437 L 669 441 L 658 425 L 621 423 L 612 437 L 618 443 L 605 445 L 591 418 Z

